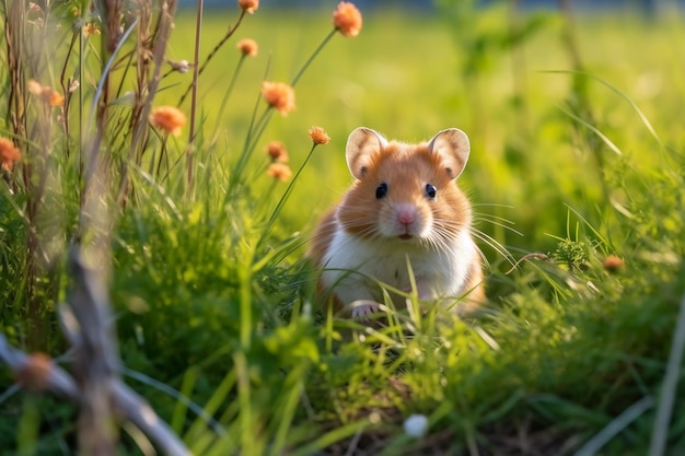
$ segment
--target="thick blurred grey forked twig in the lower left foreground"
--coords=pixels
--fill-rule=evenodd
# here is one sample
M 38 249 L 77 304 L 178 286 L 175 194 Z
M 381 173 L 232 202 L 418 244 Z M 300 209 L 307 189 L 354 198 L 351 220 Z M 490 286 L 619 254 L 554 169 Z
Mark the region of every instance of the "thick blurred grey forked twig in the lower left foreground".
M 73 374 L 45 355 L 12 348 L 2 335 L 0 361 L 14 371 L 22 387 L 48 390 L 79 405 L 79 444 L 84 455 L 116 454 L 113 422 L 118 418 L 136 424 L 165 454 L 190 455 L 148 402 L 121 382 L 104 284 L 84 266 L 78 247 L 72 247 L 70 266 L 76 285 L 70 305 L 60 309 L 60 320 L 73 349 Z

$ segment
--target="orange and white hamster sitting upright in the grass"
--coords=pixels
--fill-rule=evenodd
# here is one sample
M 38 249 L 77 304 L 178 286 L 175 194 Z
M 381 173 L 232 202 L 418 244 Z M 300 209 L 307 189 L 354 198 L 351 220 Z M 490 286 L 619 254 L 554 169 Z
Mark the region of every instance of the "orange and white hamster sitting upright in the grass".
M 409 292 L 411 274 L 421 301 L 464 297 L 471 308 L 485 300 L 471 203 L 455 184 L 469 151 L 456 128 L 420 144 L 365 127 L 350 133 L 345 153 L 355 182 L 322 218 L 307 252 L 336 311 L 369 319 L 383 302 L 381 284 Z

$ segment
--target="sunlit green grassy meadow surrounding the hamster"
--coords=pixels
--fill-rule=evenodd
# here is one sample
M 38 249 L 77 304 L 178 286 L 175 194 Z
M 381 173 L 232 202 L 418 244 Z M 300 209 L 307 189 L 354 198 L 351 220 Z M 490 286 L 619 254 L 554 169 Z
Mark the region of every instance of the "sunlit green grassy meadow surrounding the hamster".
M 311 65 L 335 4 L 262 7 L 209 60 L 241 10 L 206 11 L 207 66 L 196 98 L 179 105 L 190 121 L 177 137 L 131 114 L 136 72 L 153 80 L 154 65 L 139 71 L 148 60 L 117 60 L 107 115 L 95 109 L 104 31 L 70 55 L 67 26 L 45 49 L 26 45 L 24 56 L 36 57 L 23 72 L 0 70 L 0 136 L 22 152 L 2 171 L 3 338 L 73 369 L 58 309 L 76 299 L 68 252 L 77 244 L 106 279 L 125 383 L 193 454 L 681 454 L 682 16 L 439 3 L 433 14 L 362 10 L 359 35 L 335 33 Z M 62 10 L 55 23 L 73 21 Z M 42 30 L 31 14 L 30 38 Z M 196 27 L 195 11 L 181 9 L 164 59 L 193 61 Z M 112 54 L 139 52 L 139 30 L 142 21 Z M 236 49 L 243 38 L 258 44 L 256 56 Z M 297 108 L 279 115 L 262 82 L 290 83 L 305 66 Z M 28 128 L 13 128 L 22 114 L 13 78 L 59 91 L 63 68 L 80 80 L 70 110 L 43 110 L 28 91 Z M 193 69 L 169 70 L 139 107 L 178 103 Z M 330 141 L 313 147 L 312 126 Z M 397 311 L 378 328 L 321 311 L 303 254 L 351 182 L 344 151 L 359 126 L 407 142 L 448 127 L 469 136 L 458 185 L 488 261 L 477 317 Z M 138 128 L 149 131 L 142 152 L 128 154 Z M 89 190 L 98 135 L 106 178 Z M 267 174 L 270 141 L 289 152 L 287 182 Z M 36 183 L 28 168 L 47 177 Z M 26 375 L 0 371 L 0 453 L 78 454 L 79 408 L 39 382 L 27 390 Z M 411 416 L 427 419 L 420 435 L 405 429 Z M 154 454 L 149 436 L 120 421 L 117 454 Z

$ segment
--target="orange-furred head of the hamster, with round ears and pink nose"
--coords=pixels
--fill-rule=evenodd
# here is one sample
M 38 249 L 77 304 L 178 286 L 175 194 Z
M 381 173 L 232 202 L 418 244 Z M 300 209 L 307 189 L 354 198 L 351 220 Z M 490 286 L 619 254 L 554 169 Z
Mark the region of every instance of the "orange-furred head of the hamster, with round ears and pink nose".
M 456 128 L 420 144 L 356 129 L 346 148 L 356 182 L 338 209 L 341 227 L 360 237 L 444 246 L 471 225 L 471 206 L 455 184 L 468 153 L 468 138 Z

